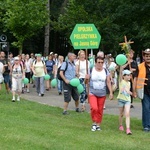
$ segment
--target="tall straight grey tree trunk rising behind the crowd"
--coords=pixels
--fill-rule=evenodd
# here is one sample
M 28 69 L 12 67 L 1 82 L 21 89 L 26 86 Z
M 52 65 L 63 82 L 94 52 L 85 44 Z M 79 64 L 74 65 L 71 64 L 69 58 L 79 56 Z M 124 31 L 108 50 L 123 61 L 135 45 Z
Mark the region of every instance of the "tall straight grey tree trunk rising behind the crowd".
M 50 16 L 50 0 L 47 0 L 48 17 Z M 50 23 L 45 26 L 44 55 L 49 53 Z

